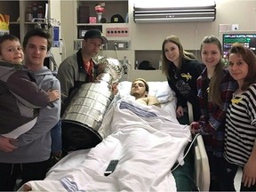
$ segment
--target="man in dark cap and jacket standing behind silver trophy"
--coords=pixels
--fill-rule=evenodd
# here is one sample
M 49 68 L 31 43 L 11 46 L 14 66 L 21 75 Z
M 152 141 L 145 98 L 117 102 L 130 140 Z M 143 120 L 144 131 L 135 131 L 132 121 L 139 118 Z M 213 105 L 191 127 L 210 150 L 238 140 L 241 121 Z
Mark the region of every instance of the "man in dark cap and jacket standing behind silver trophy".
M 97 68 L 92 58 L 100 52 L 102 44 L 107 42 L 108 39 L 100 30 L 90 29 L 84 34 L 82 48 L 60 63 L 57 78 L 60 80 L 61 87 L 61 114 L 79 86 L 94 81 Z

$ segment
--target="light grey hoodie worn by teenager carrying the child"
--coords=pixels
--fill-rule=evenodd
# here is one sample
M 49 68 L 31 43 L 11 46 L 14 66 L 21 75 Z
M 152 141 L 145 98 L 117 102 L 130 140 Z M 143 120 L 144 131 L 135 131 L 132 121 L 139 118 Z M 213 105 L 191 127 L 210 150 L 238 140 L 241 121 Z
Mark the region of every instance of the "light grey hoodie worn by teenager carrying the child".
M 34 71 L 36 84 L 44 91 L 49 89 L 60 91 L 59 80 L 52 76 L 46 67 Z M 22 164 L 42 162 L 51 155 L 51 129 L 60 120 L 60 100 L 52 102 L 52 106 L 41 108 L 36 125 L 18 138 L 17 149 L 5 153 L 0 151 L 0 163 Z

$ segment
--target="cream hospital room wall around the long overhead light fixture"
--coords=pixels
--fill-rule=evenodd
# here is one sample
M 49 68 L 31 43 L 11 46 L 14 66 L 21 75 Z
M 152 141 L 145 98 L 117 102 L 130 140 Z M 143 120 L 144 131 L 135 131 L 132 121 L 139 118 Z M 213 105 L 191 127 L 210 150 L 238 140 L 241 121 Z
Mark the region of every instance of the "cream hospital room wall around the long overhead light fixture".
M 108 1 L 104 2 L 108 3 Z M 216 0 L 215 2 L 217 12 L 214 21 L 145 24 L 133 21 L 133 4 L 136 4 L 136 0 L 129 0 L 129 22 L 117 26 L 129 28 L 129 36 L 110 38 L 110 40 L 129 40 L 131 42 L 129 50 L 117 52 L 103 50 L 100 54 L 118 60 L 123 60 L 124 56 L 127 57 L 131 68 L 123 80 L 143 77 L 148 81 L 164 81 L 166 78 L 160 70 L 135 69 L 137 52 L 148 52 L 145 58 L 147 60 L 147 57 L 150 58 L 150 51 L 156 51 L 154 60 L 159 60 L 164 37 L 176 35 L 180 37 L 185 50 L 191 50 L 198 56 L 200 43 L 204 36 L 218 36 L 221 40 L 220 26 L 223 24 L 225 24 L 224 27 L 228 27 L 225 30 L 231 30 L 233 24 L 238 25 L 238 30 L 256 30 L 256 0 Z M 61 29 L 65 49 L 62 60 L 76 52 L 74 40 L 76 40 L 77 32 L 74 17 L 76 17 L 75 1 L 61 1 Z M 106 26 L 115 28 L 116 24 L 102 24 L 102 31 L 105 35 Z

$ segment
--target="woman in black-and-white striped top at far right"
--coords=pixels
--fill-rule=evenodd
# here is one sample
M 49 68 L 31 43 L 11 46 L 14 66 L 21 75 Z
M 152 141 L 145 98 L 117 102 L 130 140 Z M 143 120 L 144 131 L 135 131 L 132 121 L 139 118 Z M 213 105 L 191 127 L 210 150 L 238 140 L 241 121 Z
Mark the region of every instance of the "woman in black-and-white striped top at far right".
M 234 179 L 241 167 L 240 191 L 256 191 L 256 57 L 242 44 L 233 44 L 228 60 L 239 87 L 227 111 L 223 183 L 226 191 L 235 191 Z

